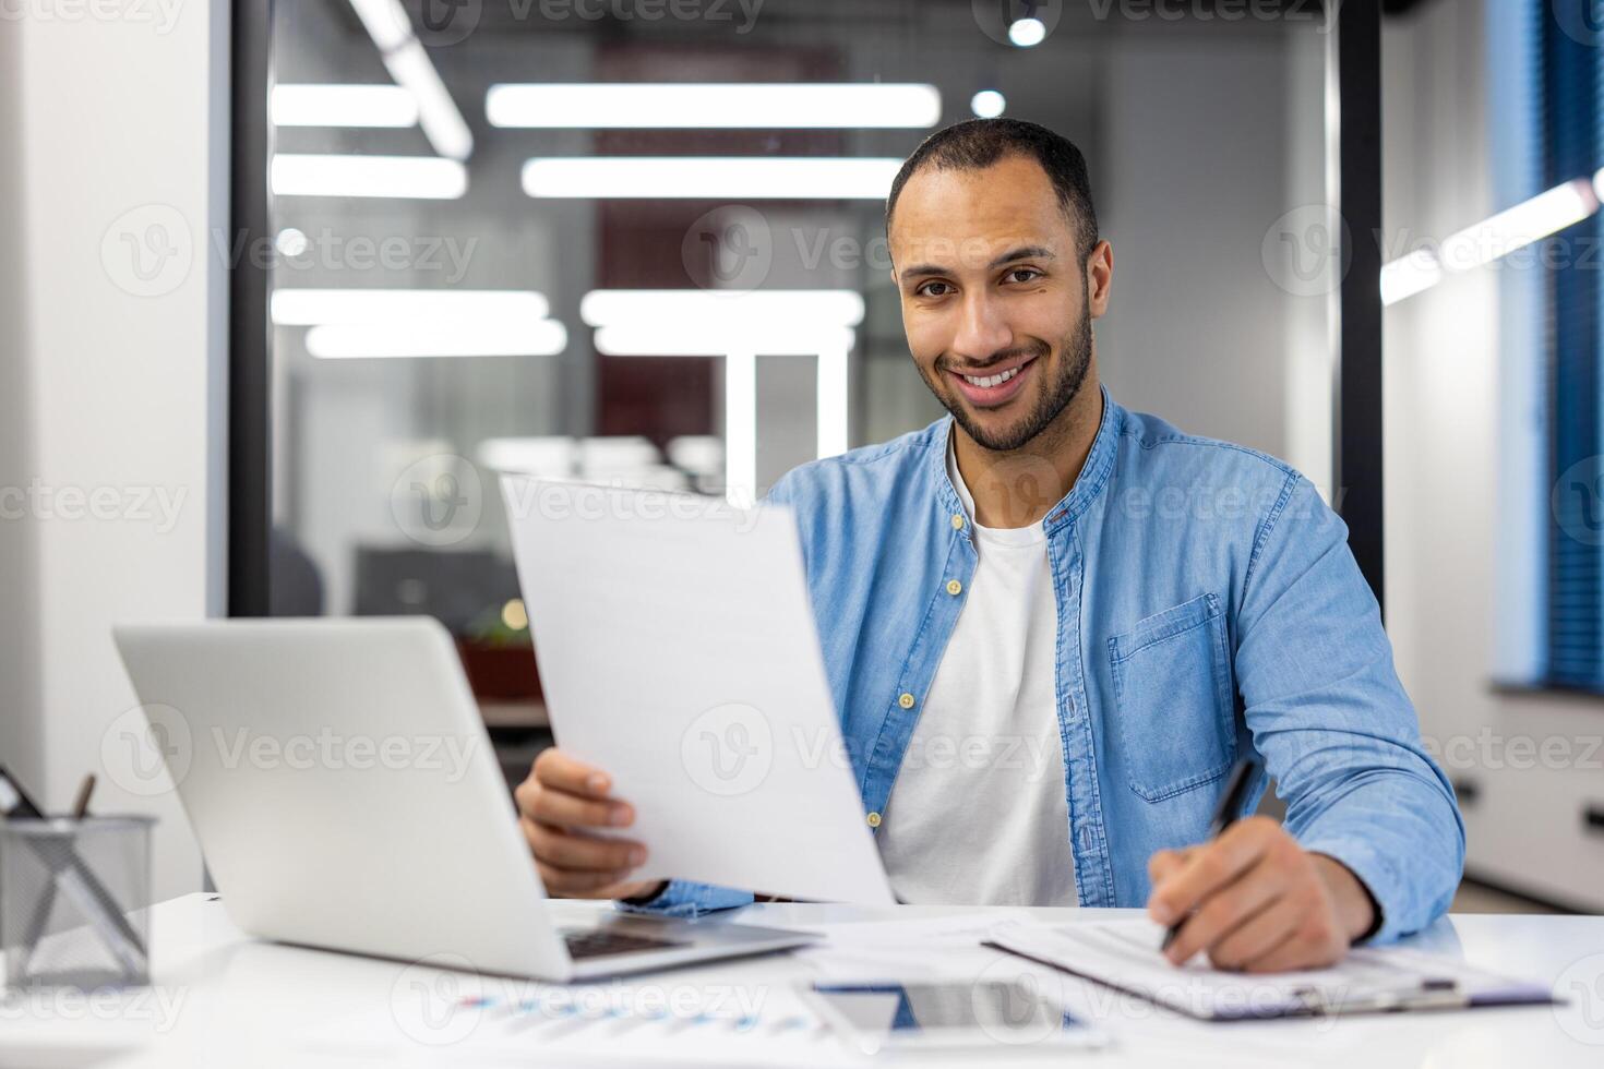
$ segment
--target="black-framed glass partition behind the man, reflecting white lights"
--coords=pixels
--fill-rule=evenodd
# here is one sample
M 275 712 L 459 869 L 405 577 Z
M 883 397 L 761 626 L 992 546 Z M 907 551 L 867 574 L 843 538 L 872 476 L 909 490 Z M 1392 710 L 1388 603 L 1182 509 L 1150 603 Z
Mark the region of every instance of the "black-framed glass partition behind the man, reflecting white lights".
M 884 199 L 972 115 L 1086 154 L 1113 394 L 1330 490 L 1327 22 L 1158 6 L 277 0 L 271 612 L 431 614 L 541 724 L 497 474 L 747 502 L 938 418 Z

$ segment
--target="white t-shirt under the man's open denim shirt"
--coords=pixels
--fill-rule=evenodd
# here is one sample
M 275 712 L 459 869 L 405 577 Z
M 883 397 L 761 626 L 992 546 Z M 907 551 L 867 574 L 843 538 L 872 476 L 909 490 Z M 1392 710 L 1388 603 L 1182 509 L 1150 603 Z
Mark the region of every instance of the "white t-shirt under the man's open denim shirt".
M 975 502 L 946 471 L 974 524 Z M 876 835 L 905 902 L 1075 906 L 1043 524 L 974 524 L 978 564 Z

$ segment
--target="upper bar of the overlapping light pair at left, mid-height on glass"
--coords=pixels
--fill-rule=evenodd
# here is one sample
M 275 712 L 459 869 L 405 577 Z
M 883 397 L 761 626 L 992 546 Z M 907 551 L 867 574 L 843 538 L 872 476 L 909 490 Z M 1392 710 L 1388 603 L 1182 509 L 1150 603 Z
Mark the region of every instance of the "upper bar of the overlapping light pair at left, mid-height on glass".
M 550 314 L 533 290 L 313 290 L 273 292 L 273 322 L 318 324 L 470 324 L 515 327 Z

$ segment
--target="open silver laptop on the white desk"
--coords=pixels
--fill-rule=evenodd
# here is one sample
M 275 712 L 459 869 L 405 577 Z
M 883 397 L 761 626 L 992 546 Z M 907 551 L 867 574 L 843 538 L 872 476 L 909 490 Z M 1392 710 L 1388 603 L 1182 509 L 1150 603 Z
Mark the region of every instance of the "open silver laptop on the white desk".
M 816 939 L 618 910 L 560 928 L 433 619 L 112 633 L 223 906 L 255 936 L 547 981 Z

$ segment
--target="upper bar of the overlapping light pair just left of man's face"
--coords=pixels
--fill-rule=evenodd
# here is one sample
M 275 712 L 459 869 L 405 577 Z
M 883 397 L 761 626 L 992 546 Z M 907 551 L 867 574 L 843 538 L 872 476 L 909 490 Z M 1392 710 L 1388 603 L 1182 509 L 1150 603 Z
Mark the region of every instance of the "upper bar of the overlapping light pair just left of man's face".
M 579 317 L 592 327 L 805 332 L 863 322 L 863 295 L 855 290 L 590 290 L 579 301 Z

